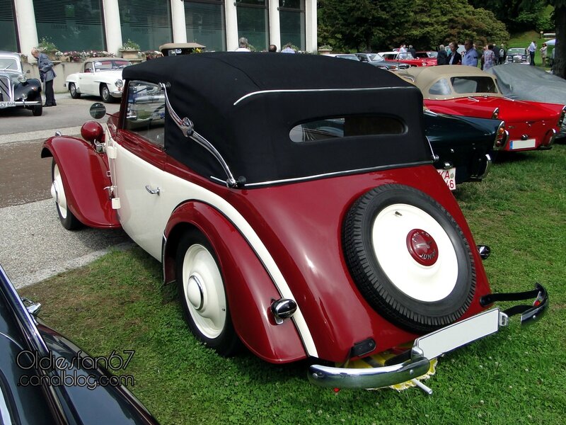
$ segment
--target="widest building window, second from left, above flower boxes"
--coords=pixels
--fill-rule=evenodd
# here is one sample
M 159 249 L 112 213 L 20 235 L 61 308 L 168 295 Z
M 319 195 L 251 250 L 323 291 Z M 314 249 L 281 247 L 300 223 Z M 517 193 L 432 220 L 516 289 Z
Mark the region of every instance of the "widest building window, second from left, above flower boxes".
M 102 0 L 33 0 L 37 36 L 68 50 L 105 50 Z

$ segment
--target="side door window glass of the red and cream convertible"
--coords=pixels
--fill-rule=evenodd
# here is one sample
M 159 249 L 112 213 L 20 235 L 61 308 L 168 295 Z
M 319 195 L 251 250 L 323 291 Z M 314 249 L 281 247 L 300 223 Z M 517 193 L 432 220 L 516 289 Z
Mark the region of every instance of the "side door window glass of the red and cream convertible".
M 165 95 L 157 84 L 130 81 L 124 128 L 163 147 L 165 141 Z

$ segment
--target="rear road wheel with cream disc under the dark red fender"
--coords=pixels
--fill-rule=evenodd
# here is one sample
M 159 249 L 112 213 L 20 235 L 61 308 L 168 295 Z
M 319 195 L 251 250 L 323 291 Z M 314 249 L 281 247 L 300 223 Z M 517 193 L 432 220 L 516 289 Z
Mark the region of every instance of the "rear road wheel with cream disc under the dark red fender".
M 197 229 L 180 240 L 176 257 L 178 293 L 185 320 L 199 341 L 221 356 L 238 351 L 224 282 L 208 239 Z

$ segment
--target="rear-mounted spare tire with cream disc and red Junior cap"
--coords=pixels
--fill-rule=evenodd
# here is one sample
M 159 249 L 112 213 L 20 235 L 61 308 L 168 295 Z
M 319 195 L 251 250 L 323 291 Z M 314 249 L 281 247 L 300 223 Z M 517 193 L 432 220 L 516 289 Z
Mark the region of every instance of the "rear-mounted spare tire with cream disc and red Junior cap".
M 342 244 L 359 291 L 402 329 L 434 331 L 470 307 L 470 245 L 454 217 L 422 191 L 386 184 L 364 193 L 347 212 Z

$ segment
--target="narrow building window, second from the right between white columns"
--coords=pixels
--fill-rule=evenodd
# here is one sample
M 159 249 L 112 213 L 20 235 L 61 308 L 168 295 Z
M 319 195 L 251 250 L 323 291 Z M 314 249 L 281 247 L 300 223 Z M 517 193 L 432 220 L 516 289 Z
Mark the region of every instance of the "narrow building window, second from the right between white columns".
M 238 38 L 245 37 L 253 48 L 261 52 L 269 44 L 269 20 L 267 0 L 236 1 Z

